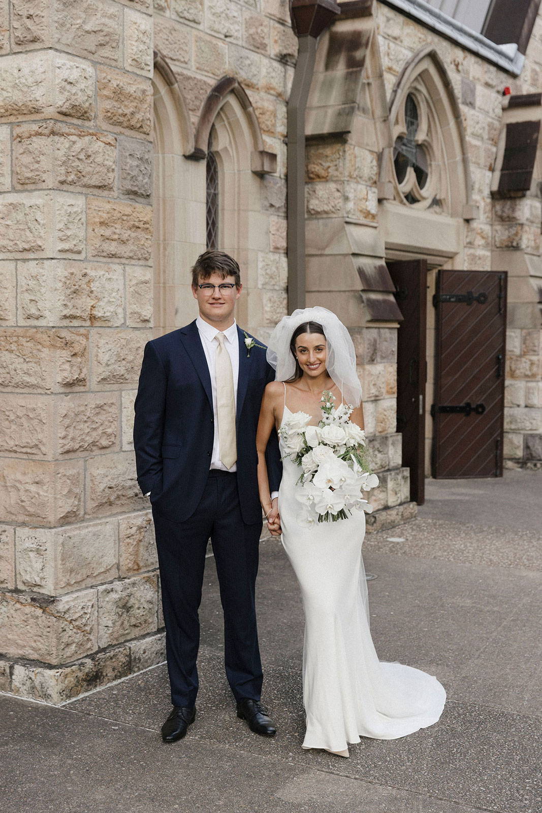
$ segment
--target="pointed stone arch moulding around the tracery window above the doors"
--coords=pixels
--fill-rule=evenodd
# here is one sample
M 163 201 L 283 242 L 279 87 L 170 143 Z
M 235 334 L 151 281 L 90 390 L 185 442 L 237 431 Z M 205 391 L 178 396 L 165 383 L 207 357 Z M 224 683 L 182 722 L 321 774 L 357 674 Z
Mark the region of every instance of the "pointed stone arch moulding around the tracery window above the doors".
M 457 102 L 453 85 L 444 67 L 440 55 L 433 46 L 425 46 L 405 64 L 392 90 L 389 102 L 389 126 L 392 142 L 395 141 L 394 128 L 401 116 L 401 106 L 409 93 L 418 93 L 427 105 L 427 115 L 433 121 L 433 138 L 437 143 L 432 145 L 433 172 L 439 172 L 438 185 L 444 201 L 443 211 L 452 217 L 470 220 L 476 215 L 472 205 L 470 164 L 466 146 L 462 115 Z M 392 160 L 381 164 L 379 183 L 392 183 L 394 197 L 405 202 L 397 184 Z M 422 207 L 430 205 L 420 203 Z

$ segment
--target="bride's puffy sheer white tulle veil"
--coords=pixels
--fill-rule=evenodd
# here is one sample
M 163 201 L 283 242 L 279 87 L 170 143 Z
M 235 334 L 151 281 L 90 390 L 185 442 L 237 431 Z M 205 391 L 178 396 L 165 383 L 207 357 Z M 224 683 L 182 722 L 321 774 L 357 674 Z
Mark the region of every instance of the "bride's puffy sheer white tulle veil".
M 267 361 L 275 367 L 275 380 L 284 381 L 293 376 L 296 363 L 290 352 L 290 341 L 294 330 L 304 322 L 322 325 L 327 341 L 327 372 L 343 393 L 345 402 L 359 406 L 362 385 L 356 372 L 352 337 L 340 319 L 325 307 L 298 308 L 292 315 L 283 316 L 277 324 L 267 346 Z

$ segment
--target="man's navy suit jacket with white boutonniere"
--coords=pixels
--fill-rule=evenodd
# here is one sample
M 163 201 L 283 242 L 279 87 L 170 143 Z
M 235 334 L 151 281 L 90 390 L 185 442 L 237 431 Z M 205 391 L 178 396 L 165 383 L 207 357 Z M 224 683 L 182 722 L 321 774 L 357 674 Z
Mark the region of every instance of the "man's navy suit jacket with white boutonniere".
M 266 348 L 239 337 L 236 400 L 237 488 L 246 524 L 262 519 L 258 497 L 256 429 L 263 390 L 275 379 Z M 183 522 L 202 498 L 215 437 L 209 367 L 195 320 L 185 328 L 147 342 L 135 403 L 133 429 L 137 482 L 160 514 Z M 267 445 L 271 491 L 282 476 L 275 430 Z

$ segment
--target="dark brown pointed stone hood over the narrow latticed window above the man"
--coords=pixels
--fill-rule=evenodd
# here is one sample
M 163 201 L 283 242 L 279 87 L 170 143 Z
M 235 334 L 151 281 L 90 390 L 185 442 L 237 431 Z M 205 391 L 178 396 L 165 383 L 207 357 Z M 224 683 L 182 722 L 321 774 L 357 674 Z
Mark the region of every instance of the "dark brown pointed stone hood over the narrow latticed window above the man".
M 252 172 L 256 172 L 258 175 L 263 175 L 267 172 L 276 172 L 276 155 L 264 150 L 262 131 L 260 130 L 254 107 L 252 107 L 252 103 L 243 86 L 233 76 L 223 76 L 215 87 L 210 90 L 205 102 L 203 102 L 202 112 L 197 122 L 193 150 L 185 153 L 186 158 L 197 161 L 206 158 L 211 128 L 215 123 L 220 109 L 230 94 L 236 98 L 241 109 L 244 111 L 249 132 L 251 133 L 252 146 L 250 156 Z

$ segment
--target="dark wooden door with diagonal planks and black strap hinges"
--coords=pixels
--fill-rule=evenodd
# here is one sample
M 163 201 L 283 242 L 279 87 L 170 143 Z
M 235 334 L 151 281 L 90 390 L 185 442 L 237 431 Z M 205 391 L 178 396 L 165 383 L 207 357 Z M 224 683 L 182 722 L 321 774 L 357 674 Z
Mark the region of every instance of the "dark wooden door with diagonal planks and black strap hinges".
M 501 477 L 506 273 L 440 270 L 434 477 Z

